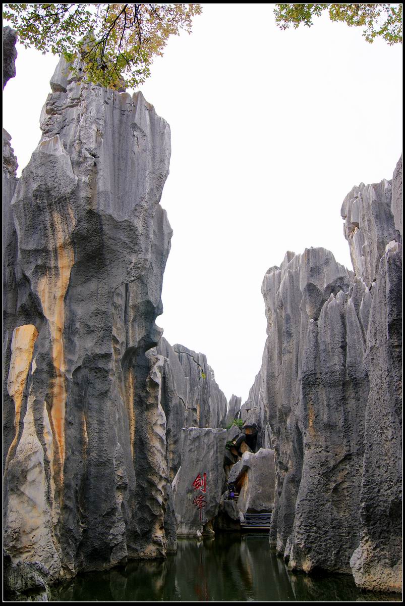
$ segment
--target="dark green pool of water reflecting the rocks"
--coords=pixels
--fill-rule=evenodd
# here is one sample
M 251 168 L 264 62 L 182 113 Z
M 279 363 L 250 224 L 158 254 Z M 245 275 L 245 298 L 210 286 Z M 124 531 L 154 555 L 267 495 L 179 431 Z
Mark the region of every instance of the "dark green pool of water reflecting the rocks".
M 361 593 L 350 575 L 309 577 L 288 571 L 266 534 L 182 539 L 166 560 L 140 560 L 82 574 L 53 588 L 53 601 L 400 601 Z

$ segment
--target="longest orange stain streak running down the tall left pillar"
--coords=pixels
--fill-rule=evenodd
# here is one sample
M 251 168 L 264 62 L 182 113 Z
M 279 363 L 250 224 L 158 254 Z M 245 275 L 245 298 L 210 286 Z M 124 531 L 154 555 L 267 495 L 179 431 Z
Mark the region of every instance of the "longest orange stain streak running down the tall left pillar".
M 56 377 L 51 384 L 53 392 L 51 419 L 53 422 L 56 440 L 58 441 L 61 468 L 65 458 L 65 355 L 63 331 L 65 322 L 64 299 L 69 285 L 70 271 L 74 264 L 73 247 L 64 238 L 64 229 L 61 218 L 57 213 L 53 214 L 51 233 L 56 244 L 56 266 L 51 267 L 38 282 L 38 295 L 41 299 L 42 310 L 47 318 L 51 333 L 52 361 Z M 62 471 L 61 471 L 62 478 Z

